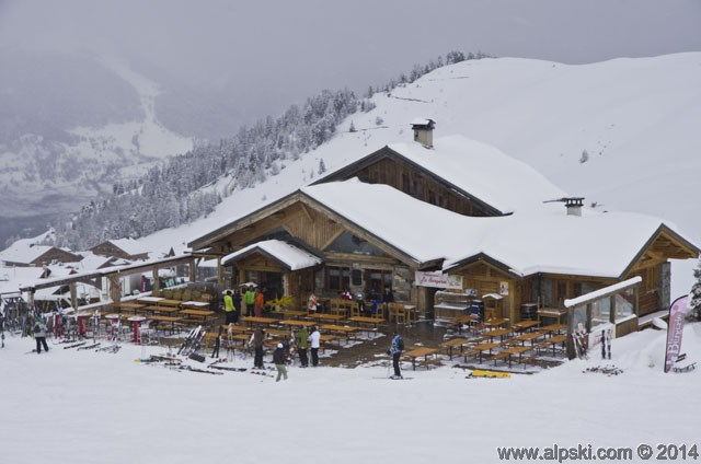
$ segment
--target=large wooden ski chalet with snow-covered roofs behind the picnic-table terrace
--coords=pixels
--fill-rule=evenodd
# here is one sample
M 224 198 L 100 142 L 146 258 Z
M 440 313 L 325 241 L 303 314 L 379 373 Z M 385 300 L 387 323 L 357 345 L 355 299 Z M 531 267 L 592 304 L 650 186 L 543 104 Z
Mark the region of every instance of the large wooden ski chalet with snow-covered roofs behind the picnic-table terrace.
M 434 143 L 434 125 L 415 121 L 415 142 L 387 146 L 188 246 L 218 255 L 226 283 L 253 281 L 267 298 L 298 304 L 312 290 L 368 300 L 391 292 L 430 316 L 441 287 L 418 283 L 429 271 L 457 278 L 460 288 L 448 291 L 466 306 L 490 295 L 491 314 L 512 322 L 533 306 L 559 318 L 564 300 L 635 276 L 627 321 L 669 304 L 668 260 L 698 257 L 697 245 L 654 218 L 583 214 L 582 198 L 492 147 L 462 137 Z M 261 245 L 269 241 L 307 265 Z

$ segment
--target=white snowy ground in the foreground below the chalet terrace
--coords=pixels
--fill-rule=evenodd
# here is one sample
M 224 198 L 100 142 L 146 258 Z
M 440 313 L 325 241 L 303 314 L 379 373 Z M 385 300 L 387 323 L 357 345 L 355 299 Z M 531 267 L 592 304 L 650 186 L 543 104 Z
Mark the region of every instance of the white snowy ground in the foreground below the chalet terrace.
M 645 330 L 613 340 L 612 361 L 594 356 L 505 380 L 468 380 L 449 366 L 405 371 L 411 381 L 386 380 L 382 366 L 291 367 L 280 383 L 134 362 L 164 352 L 157 347 L 112 355 L 49 340 L 48 353 L 25 355 L 33 340 L 10 337 L 0 350 L 0 450 L 14 464 L 490 463 L 508 445 L 689 446 L 701 369 L 663 373 L 665 337 Z M 701 355 L 700 324 L 686 327 L 682 351 L 689 361 Z M 583 373 L 609 363 L 624 372 Z

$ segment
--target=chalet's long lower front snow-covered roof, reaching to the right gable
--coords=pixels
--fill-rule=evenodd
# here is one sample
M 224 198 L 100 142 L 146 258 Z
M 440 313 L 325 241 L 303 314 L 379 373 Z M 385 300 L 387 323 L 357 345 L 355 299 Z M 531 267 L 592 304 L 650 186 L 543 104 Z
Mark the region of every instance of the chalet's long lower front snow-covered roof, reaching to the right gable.
M 301 192 L 418 263 L 445 258 L 444 269 L 487 255 L 521 276 L 618 278 L 663 225 L 644 214 L 585 208 L 582 217 L 575 217 L 567 216 L 562 205 L 542 204 L 506 217 L 466 217 L 358 179 Z

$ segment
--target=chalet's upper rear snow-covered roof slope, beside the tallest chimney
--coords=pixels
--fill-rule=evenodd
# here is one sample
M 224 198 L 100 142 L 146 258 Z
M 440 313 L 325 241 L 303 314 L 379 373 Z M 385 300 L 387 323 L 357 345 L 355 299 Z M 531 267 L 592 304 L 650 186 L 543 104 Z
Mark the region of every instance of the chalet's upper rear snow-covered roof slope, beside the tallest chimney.
M 433 150 L 416 142 L 388 147 L 503 213 L 567 196 L 526 163 L 463 136 L 438 138 Z

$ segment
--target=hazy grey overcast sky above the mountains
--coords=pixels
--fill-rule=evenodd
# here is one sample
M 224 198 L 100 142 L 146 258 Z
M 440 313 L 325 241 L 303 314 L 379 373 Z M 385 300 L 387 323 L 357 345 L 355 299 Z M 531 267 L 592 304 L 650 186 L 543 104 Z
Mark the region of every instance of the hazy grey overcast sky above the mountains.
M 701 50 L 700 0 L 0 0 L 0 44 L 100 50 L 280 108 L 458 49 L 585 63 Z

